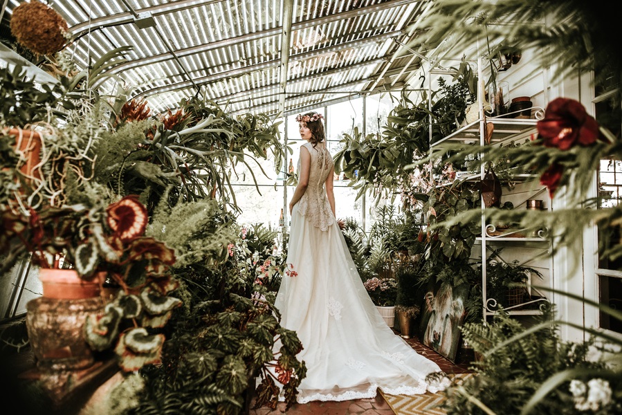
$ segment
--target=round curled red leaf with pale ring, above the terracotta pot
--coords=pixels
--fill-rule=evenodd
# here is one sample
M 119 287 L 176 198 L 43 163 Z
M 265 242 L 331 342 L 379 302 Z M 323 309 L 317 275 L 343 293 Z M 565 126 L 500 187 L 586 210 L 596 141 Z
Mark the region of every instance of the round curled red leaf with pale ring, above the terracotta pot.
M 136 194 L 125 196 L 106 209 L 108 225 L 122 241 L 142 236 L 147 229 L 147 208 L 138 201 Z

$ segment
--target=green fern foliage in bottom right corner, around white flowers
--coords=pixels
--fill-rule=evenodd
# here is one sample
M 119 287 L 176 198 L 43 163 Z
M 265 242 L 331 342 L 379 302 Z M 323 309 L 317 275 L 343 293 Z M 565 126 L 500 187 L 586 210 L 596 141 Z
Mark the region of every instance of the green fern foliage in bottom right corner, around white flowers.
M 570 380 L 603 378 L 613 391 L 619 391 L 622 378 L 618 369 L 607 369 L 607 352 L 594 337 L 586 342 L 562 342 L 552 308 L 525 329 L 500 309 L 489 324 L 465 323 L 464 339 L 481 360 L 473 362 L 475 376 L 453 382 L 442 407 L 448 414 L 577 414 L 576 398 L 569 389 Z M 600 351 L 594 358 L 595 351 Z M 555 379 L 551 374 L 568 377 L 539 394 Z M 538 396 L 537 400 L 532 397 Z M 622 396 L 614 393 L 611 403 L 590 414 L 614 414 L 622 410 Z M 486 409 L 486 410 L 484 410 Z

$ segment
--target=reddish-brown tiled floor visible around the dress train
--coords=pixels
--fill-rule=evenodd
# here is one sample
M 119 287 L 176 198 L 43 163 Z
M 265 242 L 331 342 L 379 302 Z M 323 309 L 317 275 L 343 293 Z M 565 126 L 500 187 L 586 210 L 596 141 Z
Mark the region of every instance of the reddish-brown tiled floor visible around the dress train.
M 405 339 L 417 353 L 426 356 L 426 358 L 434 361 L 439 365 L 441 370 L 446 374 L 464 374 L 468 373 L 468 357 L 457 358 L 457 364 L 443 358 L 439 353 L 429 349 L 419 342 L 417 338 Z M 251 403 L 251 407 L 253 403 Z M 281 415 L 285 412 L 285 404 L 279 403 L 277 409 L 272 410 L 268 407 L 251 409 L 250 415 Z M 346 400 L 344 402 L 310 402 L 305 404 L 295 404 L 287 410 L 287 414 L 326 414 L 326 415 L 392 415 L 394 412 L 386 403 L 381 394 L 376 398 Z

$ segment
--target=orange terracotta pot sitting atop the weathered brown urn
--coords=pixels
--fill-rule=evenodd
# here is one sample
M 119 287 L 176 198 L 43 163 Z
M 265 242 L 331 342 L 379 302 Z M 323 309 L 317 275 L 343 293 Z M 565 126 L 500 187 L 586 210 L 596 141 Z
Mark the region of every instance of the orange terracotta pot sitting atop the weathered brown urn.
M 39 280 L 43 284 L 43 295 L 47 298 L 80 299 L 100 295 L 99 279 L 82 279 L 75 270 L 42 268 Z

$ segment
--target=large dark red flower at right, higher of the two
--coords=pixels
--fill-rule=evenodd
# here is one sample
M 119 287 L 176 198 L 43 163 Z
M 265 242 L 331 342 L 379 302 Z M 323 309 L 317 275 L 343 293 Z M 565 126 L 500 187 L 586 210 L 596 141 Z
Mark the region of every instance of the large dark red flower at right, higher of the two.
M 538 121 L 538 138 L 546 147 L 567 150 L 576 144 L 592 145 L 598 139 L 598 122 L 585 112 L 585 107 L 568 98 L 552 100 L 545 118 Z

